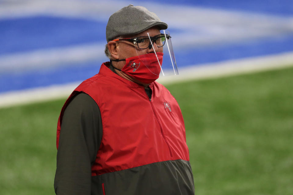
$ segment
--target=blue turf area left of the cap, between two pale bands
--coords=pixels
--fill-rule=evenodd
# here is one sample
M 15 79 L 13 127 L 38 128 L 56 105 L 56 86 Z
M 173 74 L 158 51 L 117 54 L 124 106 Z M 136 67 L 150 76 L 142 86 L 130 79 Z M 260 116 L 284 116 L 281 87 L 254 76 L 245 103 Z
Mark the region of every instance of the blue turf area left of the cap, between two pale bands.
M 0 55 L 103 41 L 107 22 L 33 16 L 0 20 Z

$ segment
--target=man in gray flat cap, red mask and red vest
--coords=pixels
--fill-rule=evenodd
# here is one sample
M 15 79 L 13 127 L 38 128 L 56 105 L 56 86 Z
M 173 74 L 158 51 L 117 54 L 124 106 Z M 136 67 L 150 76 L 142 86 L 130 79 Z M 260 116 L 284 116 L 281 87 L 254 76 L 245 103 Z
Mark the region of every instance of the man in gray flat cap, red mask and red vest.
M 110 62 L 81 83 L 61 110 L 57 195 L 194 194 L 179 105 L 155 82 L 160 72 L 168 73 L 163 46 L 177 73 L 171 37 L 160 32 L 167 27 L 141 6 L 110 16 Z

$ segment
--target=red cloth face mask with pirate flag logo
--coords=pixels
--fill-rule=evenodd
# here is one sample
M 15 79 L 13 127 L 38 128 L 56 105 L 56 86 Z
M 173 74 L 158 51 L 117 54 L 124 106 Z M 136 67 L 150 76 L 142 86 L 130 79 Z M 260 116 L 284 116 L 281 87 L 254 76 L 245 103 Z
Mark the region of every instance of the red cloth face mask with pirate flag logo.
M 121 70 L 114 68 L 122 71 L 128 76 L 132 76 L 142 83 L 150 84 L 159 78 L 163 55 L 163 53 L 157 52 L 157 56 L 155 53 L 149 53 L 127 59 L 113 60 L 116 62 L 126 61 L 125 66 Z M 160 62 L 160 65 L 158 62 Z

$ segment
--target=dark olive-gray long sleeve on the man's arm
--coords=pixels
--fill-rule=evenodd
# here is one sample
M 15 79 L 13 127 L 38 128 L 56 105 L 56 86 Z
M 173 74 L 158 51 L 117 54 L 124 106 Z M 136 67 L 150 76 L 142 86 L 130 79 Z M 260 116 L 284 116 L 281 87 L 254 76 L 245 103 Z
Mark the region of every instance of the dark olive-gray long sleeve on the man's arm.
M 91 166 L 96 160 L 103 133 L 101 113 L 85 93 L 76 95 L 63 114 L 55 193 L 91 194 Z

